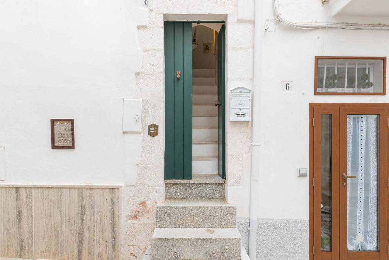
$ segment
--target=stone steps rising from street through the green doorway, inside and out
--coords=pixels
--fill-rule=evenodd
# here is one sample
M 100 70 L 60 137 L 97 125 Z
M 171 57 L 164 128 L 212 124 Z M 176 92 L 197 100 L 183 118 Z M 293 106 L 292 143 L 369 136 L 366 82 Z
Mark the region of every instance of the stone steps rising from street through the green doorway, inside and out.
M 151 259 L 241 259 L 236 207 L 226 202 L 225 180 L 217 175 L 216 100 L 215 71 L 194 69 L 193 179 L 165 180 Z

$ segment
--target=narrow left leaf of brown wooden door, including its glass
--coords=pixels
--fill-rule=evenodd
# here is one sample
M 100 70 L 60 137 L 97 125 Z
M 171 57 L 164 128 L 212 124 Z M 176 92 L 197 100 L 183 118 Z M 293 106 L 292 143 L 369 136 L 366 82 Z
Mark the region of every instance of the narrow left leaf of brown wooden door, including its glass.
M 339 259 L 339 108 L 314 108 L 314 254 Z

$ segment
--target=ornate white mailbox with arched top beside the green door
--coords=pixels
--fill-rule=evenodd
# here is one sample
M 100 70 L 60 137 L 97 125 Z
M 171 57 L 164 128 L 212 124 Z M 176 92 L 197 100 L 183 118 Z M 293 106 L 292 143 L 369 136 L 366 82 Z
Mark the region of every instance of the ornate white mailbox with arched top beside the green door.
M 230 121 L 251 121 L 251 90 L 248 88 L 231 90 Z

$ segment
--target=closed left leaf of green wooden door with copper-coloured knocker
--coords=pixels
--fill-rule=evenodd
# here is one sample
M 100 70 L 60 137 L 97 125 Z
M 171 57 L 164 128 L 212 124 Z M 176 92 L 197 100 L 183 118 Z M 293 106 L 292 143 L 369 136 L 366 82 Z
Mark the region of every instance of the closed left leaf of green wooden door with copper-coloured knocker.
M 192 179 L 192 23 L 187 22 L 165 22 L 165 179 Z

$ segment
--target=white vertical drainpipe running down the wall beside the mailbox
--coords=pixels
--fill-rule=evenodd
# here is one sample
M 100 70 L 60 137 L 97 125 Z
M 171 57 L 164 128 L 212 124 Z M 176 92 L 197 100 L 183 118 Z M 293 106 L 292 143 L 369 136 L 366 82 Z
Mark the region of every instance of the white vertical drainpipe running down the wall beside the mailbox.
M 254 0 L 254 79 L 252 105 L 251 184 L 250 184 L 250 235 L 249 257 L 256 259 L 259 179 L 259 127 L 261 98 L 261 45 L 262 45 L 262 0 Z

